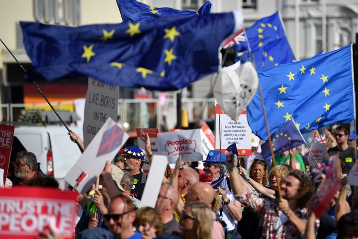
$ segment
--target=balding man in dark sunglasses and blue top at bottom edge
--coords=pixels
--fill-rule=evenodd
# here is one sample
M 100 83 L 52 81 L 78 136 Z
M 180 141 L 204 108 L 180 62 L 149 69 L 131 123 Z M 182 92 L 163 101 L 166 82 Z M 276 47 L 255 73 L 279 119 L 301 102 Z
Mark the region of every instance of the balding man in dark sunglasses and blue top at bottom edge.
M 104 219 L 116 239 L 141 239 L 142 234 L 133 231 L 135 211 L 132 201 L 124 195 L 112 199 Z

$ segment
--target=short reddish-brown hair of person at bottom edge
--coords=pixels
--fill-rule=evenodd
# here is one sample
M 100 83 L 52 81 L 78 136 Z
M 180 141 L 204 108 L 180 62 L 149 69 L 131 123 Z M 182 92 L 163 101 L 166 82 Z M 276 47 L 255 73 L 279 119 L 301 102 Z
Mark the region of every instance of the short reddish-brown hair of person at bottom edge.
M 156 230 L 156 236 L 161 235 L 163 231 L 163 222 L 160 214 L 155 213 L 155 209 L 151 207 L 144 207 L 136 210 L 136 218 L 134 220 L 134 226 L 137 227 L 141 224 L 151 224 L 153 218 L 155 220 L 153 222 L 153 228 Z

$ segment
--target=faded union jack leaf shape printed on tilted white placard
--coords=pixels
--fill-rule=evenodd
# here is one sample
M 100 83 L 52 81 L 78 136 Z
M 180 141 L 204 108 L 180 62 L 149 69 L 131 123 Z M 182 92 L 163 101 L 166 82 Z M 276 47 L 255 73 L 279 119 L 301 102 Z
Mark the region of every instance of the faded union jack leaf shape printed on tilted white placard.
M 123 141 L 123 135 L 124 131 L 117 124 L 104 131 L 96 156 L 110 153 L 120 146 Z

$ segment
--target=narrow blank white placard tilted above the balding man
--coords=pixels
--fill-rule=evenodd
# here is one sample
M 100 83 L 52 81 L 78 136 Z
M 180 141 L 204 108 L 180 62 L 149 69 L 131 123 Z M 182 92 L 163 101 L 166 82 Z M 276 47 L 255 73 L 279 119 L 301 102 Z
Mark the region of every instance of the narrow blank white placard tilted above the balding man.
M 155 208 L 159 190 L 163 183 L 163 177 L 165 170 L 167 168 L 168 158 L 164 155 L 155 155 L 152 164 L 150 166 L 146 186 L 144 187 L 142 203 L 140 205 L 143 207 Z

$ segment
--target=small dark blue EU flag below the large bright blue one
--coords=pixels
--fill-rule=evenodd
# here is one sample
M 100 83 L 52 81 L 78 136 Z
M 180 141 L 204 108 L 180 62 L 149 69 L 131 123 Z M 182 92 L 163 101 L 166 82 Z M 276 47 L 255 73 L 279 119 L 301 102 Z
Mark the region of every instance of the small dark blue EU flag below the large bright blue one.
M 305 143 L 305 140 L 292 119 L 271 134 L 273 155 L 280 154 L 303 143 Z M 261 149 L 265 160 L 272 158 L 269 140 L 261 145 Z

